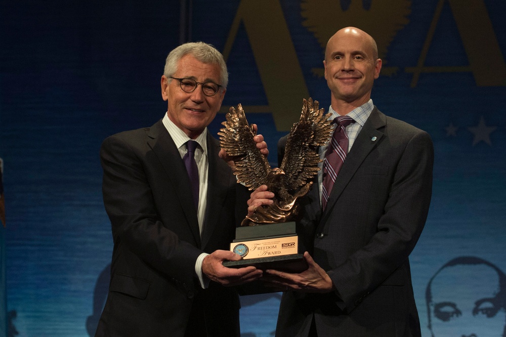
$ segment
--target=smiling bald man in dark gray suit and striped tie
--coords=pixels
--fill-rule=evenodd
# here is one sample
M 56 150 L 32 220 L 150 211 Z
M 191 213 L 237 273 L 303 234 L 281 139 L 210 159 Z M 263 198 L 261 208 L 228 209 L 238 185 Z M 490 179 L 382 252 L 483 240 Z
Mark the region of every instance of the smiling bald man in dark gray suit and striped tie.
M 382 60 L 369 34 L 339 30 L 328 40 L 323 64 L 332 118 L 352 118 L 343 127 L 348 153 L 333 187 L 323 187 L 325 159 L 301 200 L 297 231 L 309 268 L 267 270 L 263 277 L 285 291 L 276 336 L 419 336 L 408 256 L 431 200 L 431 138 L 373 105 Z M 280 158 L 285 142 L 278 144 Z M 320 148 L 322 159 L 331 152 Z M 257 189 L 250 212 L 272 196 L 265 185 Z

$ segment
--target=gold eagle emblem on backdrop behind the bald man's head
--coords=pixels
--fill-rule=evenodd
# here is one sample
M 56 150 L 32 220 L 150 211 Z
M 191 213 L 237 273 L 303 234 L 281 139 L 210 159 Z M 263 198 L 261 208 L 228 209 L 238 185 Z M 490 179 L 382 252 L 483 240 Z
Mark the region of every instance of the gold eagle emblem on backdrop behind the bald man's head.
M 339 29 L 354 26 L 370 34 L 384 59 L 399 30 L 409 22 L 411 0 L 302 0 L 303 26 L 325 50 L 328 39 Z M 385 60 L 384 64 L 386 63 Z

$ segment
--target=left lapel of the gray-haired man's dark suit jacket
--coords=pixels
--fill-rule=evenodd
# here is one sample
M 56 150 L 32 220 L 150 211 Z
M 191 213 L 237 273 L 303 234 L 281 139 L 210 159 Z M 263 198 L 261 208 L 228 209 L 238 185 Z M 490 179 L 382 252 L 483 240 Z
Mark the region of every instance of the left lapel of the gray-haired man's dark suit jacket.
M 181 209 L 183 209 L 190 230 L 195 237 L 195 241 L 200 245 L 197 211 L 193 206 L 193 197 L 189 189 L 190 179 L 186 173 L 186 168 L 179 154 L 179 150 L 161 120 L 150 128 L 148 137 L 150 138 L 148 140 L 148 145 L 158 157 L 158 160 L 165 170 L 166 178 L 174 187 L 174 191 L 178 195 L 177 199 L 180 202 Z M 167 205 L 167 207 L 169 206 L 170 205 Z

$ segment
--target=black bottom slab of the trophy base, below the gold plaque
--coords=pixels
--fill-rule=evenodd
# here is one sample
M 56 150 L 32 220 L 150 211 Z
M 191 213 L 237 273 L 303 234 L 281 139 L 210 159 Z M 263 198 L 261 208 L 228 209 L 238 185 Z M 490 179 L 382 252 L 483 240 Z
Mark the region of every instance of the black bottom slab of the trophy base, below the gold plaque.
M 302 254 L 272 256 L 266 258 L 244 259 L 239 261 L 226 261 L 228 268 L 242 268 L 255 266 L 257 269 L 275 269 L 287 273 L 301 273 L 308 269 L 308 264 Z

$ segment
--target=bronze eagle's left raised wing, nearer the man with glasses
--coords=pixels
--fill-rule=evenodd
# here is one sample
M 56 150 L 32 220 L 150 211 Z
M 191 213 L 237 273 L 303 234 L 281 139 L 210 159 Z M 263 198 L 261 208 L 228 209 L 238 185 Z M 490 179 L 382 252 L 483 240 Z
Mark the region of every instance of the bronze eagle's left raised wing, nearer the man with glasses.
M 240 104 L 226 114 L 227 121 L 222 122 L 220 144 L 229 156 L 234 157 L 237 182 L 243 183 L 249 190 L 255 190 L 266 183 L 271 172 L 267 158 L 257 148 L 253 137 L 257 135 L 253 125 L 249 125 Z

